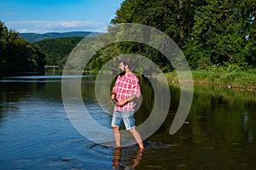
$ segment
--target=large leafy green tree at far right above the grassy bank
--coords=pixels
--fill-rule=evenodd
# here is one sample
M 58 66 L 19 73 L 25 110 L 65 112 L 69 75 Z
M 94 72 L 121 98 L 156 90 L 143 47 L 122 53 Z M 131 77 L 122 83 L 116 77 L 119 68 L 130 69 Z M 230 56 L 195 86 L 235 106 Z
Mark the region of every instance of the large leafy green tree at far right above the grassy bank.
M 190 64 L 196 67 L 208 59 L 209 65 L 252 65 L 255 4 L 250 0 L 209 0 L 197 8 L 185 51 Z

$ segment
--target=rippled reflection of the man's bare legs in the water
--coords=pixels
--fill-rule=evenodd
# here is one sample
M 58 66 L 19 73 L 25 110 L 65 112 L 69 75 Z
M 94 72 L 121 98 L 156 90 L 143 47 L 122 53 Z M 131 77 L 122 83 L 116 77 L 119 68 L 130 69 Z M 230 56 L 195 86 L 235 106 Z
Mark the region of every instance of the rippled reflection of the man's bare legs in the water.
M 133 156 L 132 156 L 133 155 Z M 143 159 L 143 149 L 139 148 L 134 154 L 130 154 L 131 160 L 130 162 L 122 161 L 122 148 L 118 147 L 114 149 L 113 152 L 113 165 L 112 169 L 120 170 L 120 169 L 136 169 L 136 167 L 140 164 Z M 127 156 L 124 156 L 125 158 Z M 128 156 L 129 157 L 129 156 Z

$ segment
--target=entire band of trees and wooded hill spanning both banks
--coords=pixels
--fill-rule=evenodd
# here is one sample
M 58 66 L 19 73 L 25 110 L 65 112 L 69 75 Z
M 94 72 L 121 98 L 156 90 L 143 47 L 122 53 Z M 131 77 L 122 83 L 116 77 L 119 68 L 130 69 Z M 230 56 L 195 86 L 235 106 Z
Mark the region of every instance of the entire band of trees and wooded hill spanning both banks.
M 246 70 L 256 66 L 255 17 L 255 0 L 125 0 L 108 26 L 108 34 L 91 37 L 87 42 L 108 41 L 116 26 L 138 23 L 171 37 L 191 69 Z M 82 39 L 68 37 L 30 43 L 20 38 L 18 32 L 8 30 L 3 22 L 0 38 L 1 73 L 39 71 L 45 64 L 63 68 L 67 56 Z M 99 71 L 119 54 L 147 56 L 162 71 L 173 70 L 163 54 L 136 42 L 115 42 L 102 48 L 85 70 Z

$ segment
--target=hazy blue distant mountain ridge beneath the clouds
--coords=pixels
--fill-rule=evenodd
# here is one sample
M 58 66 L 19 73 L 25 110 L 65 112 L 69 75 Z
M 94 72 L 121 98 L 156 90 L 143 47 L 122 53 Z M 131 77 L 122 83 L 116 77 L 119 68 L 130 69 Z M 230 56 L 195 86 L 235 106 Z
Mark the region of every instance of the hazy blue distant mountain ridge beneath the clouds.
M 20 37 L 23 37 L 28 42 L 40 42 L 44 39 L 55 39 L 60 37 L 97 37 L 101 35 L 101 32 L 92 31 L 71 31 L 71 32 L 47 32 L 44 34 L 38 33 L 20 33 Z

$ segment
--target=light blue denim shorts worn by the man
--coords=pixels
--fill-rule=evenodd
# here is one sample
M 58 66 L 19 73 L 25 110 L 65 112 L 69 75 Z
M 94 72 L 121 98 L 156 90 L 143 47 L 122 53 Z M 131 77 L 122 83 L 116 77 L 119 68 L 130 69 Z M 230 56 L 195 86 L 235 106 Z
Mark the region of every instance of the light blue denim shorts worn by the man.
M 121 127 L 125 123 L 126 130 L 130 130 L 135 126 L 134 111 L 113 111 L 111 126 Z

